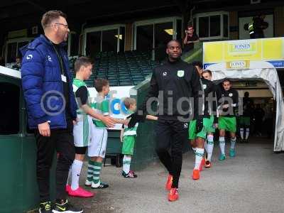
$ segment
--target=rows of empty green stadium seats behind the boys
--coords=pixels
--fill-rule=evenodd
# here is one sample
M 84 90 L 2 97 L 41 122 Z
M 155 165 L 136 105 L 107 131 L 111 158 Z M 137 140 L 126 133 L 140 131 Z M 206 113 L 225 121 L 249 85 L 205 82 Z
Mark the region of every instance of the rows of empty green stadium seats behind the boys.
M 74 62 L 75 59 L 70 59 L 71 70 Z M 94 79 L 104 78 L 109 80 L 111 86 L 136 85 L 145 80 L 157 65 L 158 62 L 151 60 L 149 52 L 100 52 L 94 59 L 93 72 L 86 83 L 93 87 Z

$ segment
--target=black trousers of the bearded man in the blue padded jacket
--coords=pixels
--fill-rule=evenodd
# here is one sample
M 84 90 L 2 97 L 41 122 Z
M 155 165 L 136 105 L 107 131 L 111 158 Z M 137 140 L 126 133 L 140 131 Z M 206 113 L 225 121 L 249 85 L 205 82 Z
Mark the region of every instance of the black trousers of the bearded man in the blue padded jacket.
M 67 129 L 51 129 L 50 137 L 40 135 L 35 130 L 35 141 L 38 148 L 36 159 L 36 174 L 40 202 L 50 201 L 50 168 L 53 164 L 55 150 L 58 153 L 56 166 L 56 199 L 65 200 L 65 185 L 70 165 L 75 158 L 73 124 L 67 120 Z

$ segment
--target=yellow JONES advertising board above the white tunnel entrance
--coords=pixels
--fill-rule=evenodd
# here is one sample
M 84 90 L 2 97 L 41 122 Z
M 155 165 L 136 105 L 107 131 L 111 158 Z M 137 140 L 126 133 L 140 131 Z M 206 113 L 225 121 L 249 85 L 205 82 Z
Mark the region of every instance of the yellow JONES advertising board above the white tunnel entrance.
M 270 62 L 284 67 L 284 38 L 224 40 L 203 43 L 203 64 L 226 62 L 227 69 L 249 69 L 251 61 Z

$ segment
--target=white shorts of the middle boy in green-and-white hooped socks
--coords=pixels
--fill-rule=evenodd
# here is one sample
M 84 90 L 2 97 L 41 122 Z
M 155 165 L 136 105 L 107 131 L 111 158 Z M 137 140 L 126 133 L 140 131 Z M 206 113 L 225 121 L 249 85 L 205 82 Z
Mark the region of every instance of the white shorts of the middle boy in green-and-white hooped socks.
M 107 149 L 107 129 L 92 125 L 92 144 L 88 147 L 89 157 L 104 158 Z

